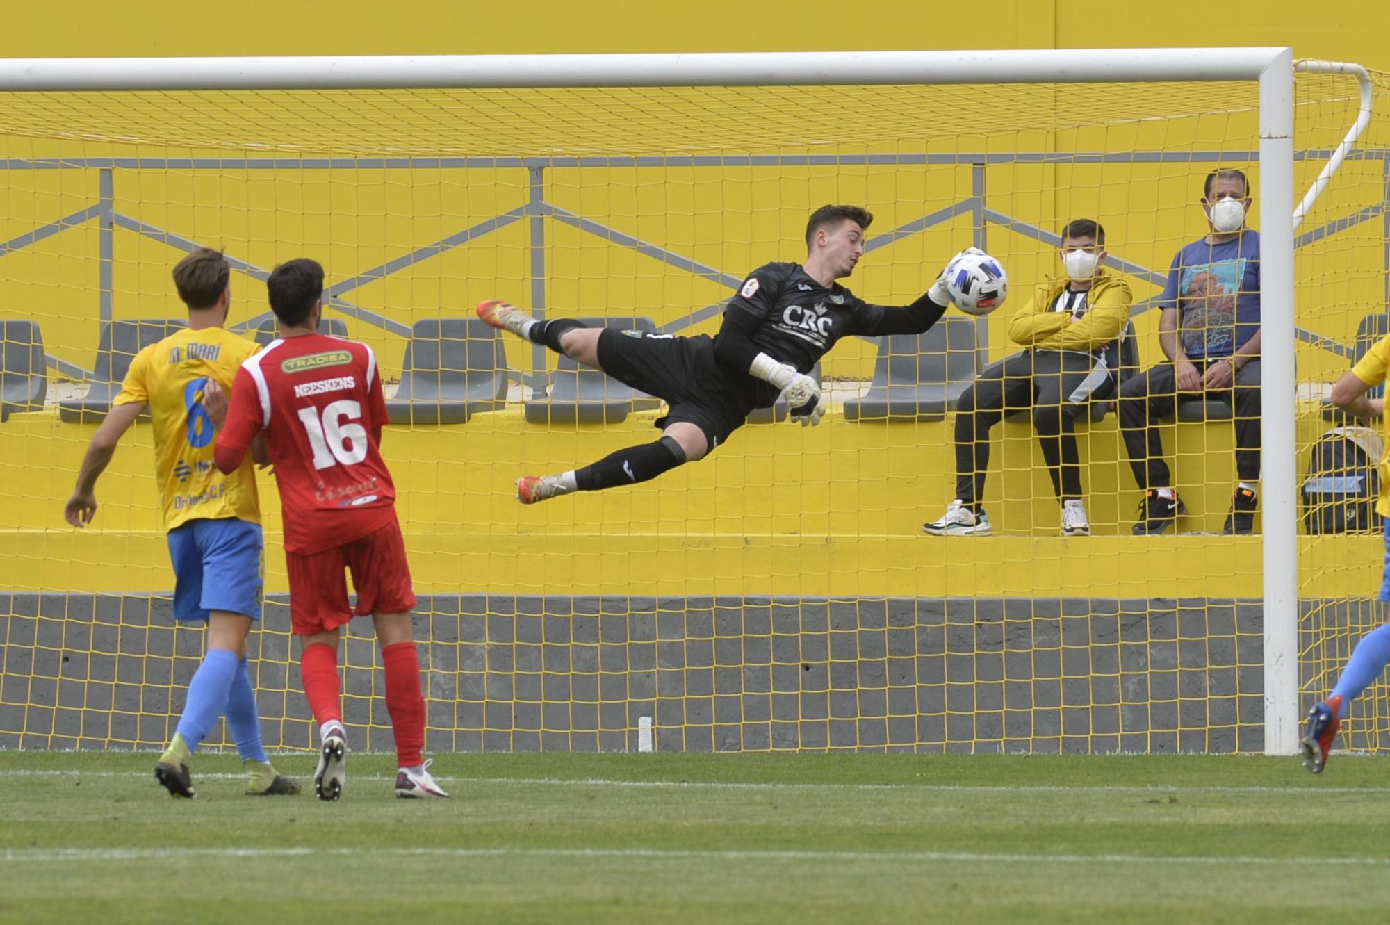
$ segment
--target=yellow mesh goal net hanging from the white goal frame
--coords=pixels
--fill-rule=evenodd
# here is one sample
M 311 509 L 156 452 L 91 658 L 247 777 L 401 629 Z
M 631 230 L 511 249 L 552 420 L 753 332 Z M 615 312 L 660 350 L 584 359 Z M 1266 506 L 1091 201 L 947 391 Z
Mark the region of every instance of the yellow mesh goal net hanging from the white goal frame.
M 1390 100 L 1371 79 L 1375 117 L 1298 229 L 1297 331 L 1262 331 L 1266 351 L 1298 339 L 1280 411 L 1297 460 L 1264 460 L 1279 485 L 1301 482 L 1334 426 L 1329 383 L 1384 333 Z M 960 396 L 1023 349 L 1011 322 L 1062 274 L 1068 222 L 1104 226 L 1106 272 L 1131 293 L 1120 375 L 1165 360 L 1158 300 L 1175 254 L 1208 231 L 1205 178 L 1244 172 L 1262 226 L 1254 79 L 562 82 L 0 92 L 0 747 L 163 746 L 182 708 L 203 639 L 170 615 L 147 424 L 103 475 L 89 529 L 61 508 L 133 351 L 183 317 L 170 271 L 195 246 L 232 261 L 229 325 L 247 338 L 274 331 L 268 271 L 318 260 L 325 324 L 379 358 L 431 750 L 637 750 L 644 718 L 659 750 L 1272 746 L 1269 501 L 1252 535 L 1218 535 L 1237 486 L 1229 404 L 1158 419 L 1187 508 L 1161 536 L 1131 533 L 1144 486 L 1105 400 L 1074 425 L 1090 536 L 1062 536 L 1031 396 L 988 432 L 992 533 L 922 531 L 956 497 Z M 1359 106 L 1355 76 L 1298 76 L 1298 196 Z M 1283 169 L 1273 194 L 1287 199 Z M 806 218 L 826 203 L 874 215 L 842 281 L 867 301 L 913 301 L 967 246 L 1002 261 L 1008 301 L 983 319 L 952 308 L 920 338 L 840 343 L 819 371 L 819 428 L 773 410 L 653 482 L 517 504 L 518 476 L 649 442 L 662 408 L 493 339 L 473 306 L 713 335 L 749 271 L 803 260 Z M 1265 253 L 1269 279 L 1277 246 Z M 267 744 L 309 747 L 270 478 L 261 500 L 253 679 Z M 1304 697 L 1277 694 L 1289 715 L 1380 619 L 1376 533 L 1314 536 L 1300 521 L 1297 554 Z M 343 690 L 357 747 L 391 743 L 378 661 L 370 625 L 354 625 Z M 1369 697 L 1354 740 L 1379 747 L 1387 715 Z

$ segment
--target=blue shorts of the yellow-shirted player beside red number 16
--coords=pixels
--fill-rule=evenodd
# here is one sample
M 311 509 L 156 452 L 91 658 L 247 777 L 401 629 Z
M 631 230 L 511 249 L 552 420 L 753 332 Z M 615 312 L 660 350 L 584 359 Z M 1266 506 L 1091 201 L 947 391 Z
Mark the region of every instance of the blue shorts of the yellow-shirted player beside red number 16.
M 264 546 L 260 524 L 235 517 L 188 521 L 170 531 L 174 619 L 207 621 L 210 610 L 260 619 Z

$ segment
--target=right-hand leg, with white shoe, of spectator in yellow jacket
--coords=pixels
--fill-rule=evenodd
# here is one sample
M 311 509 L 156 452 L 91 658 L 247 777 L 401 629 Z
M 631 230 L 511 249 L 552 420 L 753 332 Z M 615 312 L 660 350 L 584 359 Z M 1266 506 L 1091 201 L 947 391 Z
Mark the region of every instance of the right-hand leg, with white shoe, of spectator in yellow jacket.
M 1041 350 L 1034 354 L 1033 433 L 1062 503 L 1062 535 L 1090 536 L 1091 521 L 1081 499 L 1081 461 L 1076 449 L 1076 417 L 1109 375 L 1083 353 Z

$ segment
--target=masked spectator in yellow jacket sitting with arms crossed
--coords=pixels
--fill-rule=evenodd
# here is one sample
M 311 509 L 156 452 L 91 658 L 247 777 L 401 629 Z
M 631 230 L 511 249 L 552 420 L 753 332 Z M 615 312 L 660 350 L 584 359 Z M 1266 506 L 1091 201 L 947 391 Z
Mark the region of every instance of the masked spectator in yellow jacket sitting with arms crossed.
M 922 529 L 933 536 L 991 531 L 980 506 L 990 465 L 990 431 L 1009 411 L 1027 410 L 1062 503 L 1063 536 L 1091 532 L 1081 500 L 1073 424 L 1093 399 L 1115 390 L 1129 283 L 1105 272 L 1105 229 L 1088 218 L 1062 229 L 1063 275 L 1037 285 L 1009 324 L 1020 353 L 986 367 L 960 394 L 955 418 L 956 500 Z

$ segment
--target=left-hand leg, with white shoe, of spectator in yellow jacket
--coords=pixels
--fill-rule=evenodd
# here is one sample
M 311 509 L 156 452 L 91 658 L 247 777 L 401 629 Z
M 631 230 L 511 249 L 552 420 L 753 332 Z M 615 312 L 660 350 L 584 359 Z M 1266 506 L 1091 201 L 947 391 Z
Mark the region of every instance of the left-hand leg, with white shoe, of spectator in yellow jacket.
M 1023 407 L 1029 400 L 1027 353 L 1016 353 L 980 371 L 956 403 L 955 457 L 956 497 L 945 514 L 923 524 L 933 536 L 983 536 L 992 526 L 980 501 L 990 468 L 990 431 L 1004 419 L 1009 407 Z

